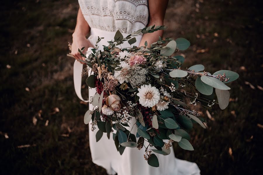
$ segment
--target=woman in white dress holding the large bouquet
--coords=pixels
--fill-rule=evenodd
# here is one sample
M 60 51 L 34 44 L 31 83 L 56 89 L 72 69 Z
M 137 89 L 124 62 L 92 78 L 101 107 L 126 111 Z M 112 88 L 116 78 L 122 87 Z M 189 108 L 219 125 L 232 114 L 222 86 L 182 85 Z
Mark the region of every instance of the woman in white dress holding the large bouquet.
M 134 31 L 150 25 L 163 25 L 165 10 L 168 0 L 79 0 L 79 11 L 77 16 L 77 25 L 73 33 L 72 55 L 76 61 L 74 64 L 74 84 L 77 96 L 85 101 L 81 95 L 81 72 L 84 57 L 78 52 L 79 48 L 94 47 L 99 37 L 104 37 L 98 43 L 98 49 L 103 49 L 103 45 L 108 45 L 107 41 L 114 38 L 115 32 L 119 30 L 123 36 L 127 36 Z M 86 35 L 90 33 L 88 39 Z M 158 40 L 163 31 L 158 30 L 154 33 L 147 33 L 136 36 L 134 46 L 144 46 L 145 41 L 148 44 Z M 128 43 L 123 43 L 121 47 L 129 47 Z M 89 89 L 89 99 L 95 94 L 95 88 Z M 86 100 L 88 102 L 89 100 Z M 89 104 L 89 108 L 92 108 Z M 134 123 L 134 120 L 131 120 Z M 129 128 L 130 130 L 130 128 Z M 96 131 L 89 131 L 89 144 L 91 149 L 92 161 L 105 168 L 108 174 L 118 175 L 190 175 L 200 174 L 200 170 L 195 163 L 180 160 L 174 157 L 174 151 L 171 149 L 169 155 L 157 155 L 159 167 L 151 167 L 144 160 L 144 150 L 136 150 L 127 147 L 123 154 L 117 152 L 114 141 L 108 139 L 104 134 L 96 142 Z M 133 129 L 133 134 L 136 130 Z M 111 136 L 112 138 L 112 136 Z

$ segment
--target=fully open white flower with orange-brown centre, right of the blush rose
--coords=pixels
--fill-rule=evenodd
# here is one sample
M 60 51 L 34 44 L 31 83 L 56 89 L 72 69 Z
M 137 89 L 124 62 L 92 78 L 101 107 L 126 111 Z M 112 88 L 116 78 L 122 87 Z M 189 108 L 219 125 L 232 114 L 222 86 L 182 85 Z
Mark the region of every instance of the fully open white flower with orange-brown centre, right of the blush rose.
M 142 85 L 138 91 L 139 102 L 144 107 L 153 107 L 160 99 L 159 90 L 154 86 L 152 87 L 152 85 Z

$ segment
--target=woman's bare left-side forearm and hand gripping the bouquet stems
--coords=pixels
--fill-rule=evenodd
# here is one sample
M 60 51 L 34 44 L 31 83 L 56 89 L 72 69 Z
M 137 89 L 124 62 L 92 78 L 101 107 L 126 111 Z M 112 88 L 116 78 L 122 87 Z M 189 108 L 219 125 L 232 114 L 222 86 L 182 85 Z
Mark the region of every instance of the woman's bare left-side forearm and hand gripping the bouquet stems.
M 72 34 L 73 42 L 72 42 L 72 50 L 71 50 L 71 54 L 75 57 L 76 60 L 85 60 L 85 58 L 80 55 L 78 49 L 85 47 L 83 51 L 83 53 L 85 53 L 89 47 L 93 47 L 91 46 L 91 43 L 86 38 L 86 35 L 89 33 L 89 31 L 90 31 L 89 24 L 86 22 L 79 8 L 78 16 L 77 16 L 77 24 L 75 27 L 75 31 Z

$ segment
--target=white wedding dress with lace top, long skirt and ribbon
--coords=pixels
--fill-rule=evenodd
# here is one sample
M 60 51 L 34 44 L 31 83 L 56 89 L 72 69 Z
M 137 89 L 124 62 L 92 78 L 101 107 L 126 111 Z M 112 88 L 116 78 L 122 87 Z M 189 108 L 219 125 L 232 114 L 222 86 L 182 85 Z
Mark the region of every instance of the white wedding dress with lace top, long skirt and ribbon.
M 147 0 L 79 0 L 82 13 L 91 27 L 89 41 L 95 45 L 97 36 L 104 37 L 99 43 L 99 49 L 102 45 L 108 45 L 107 41 L 114 38 L 115 32 L 119 29 L 123 36 L 127 36 L 133 31 L 145 27 L 148 23 L 148 1 Z M 142 35 L 136 36 L 136 43 L 139 46 Z M 121 47 L 130 47 L 127 43 Z M 74 85 L 77 96 L 85 101 L 81 95 L 81 72 L 82 64 L 74 63 Z M 94 96 L 96 89 L 89 89 L 89 99 Z M 86 100 L 88 102 L 89 100 Z M 89 104 L 92 109 L 92 104 Z M 135 120 L 130 121 L 130 126 Z M 127 127 L 131 130 L 131 127 Z M 117 152 L 113 136 L 107 138 L 104 133 L 102 138 L 96 142 L 96 132 L 89 131 L 89 145 L 92 161 L 105 168 L 108 174 L 118 175 L 196 175 L 200 170 L 195 163 L 180 160 L 174 157 L 174 151 L 171 149 L 169 155 L 160 155 L 155 153 L 159 160 L 159 167 L 151 167 L 144 160 L 145 149 L 126 147 L 124 153 L 120 155 Z M 131 133 L 136 135 L 136 127 Z M 146 142 L 147 143 L 147 142 Z

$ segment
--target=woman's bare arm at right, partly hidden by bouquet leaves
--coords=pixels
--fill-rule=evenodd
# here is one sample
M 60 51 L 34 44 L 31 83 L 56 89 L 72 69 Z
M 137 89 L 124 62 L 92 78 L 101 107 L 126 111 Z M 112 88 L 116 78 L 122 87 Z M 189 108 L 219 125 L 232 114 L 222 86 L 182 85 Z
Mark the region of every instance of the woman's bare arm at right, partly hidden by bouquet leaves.
M 149 22 L 147 26 L 163 25 L 165 11 L 169 0 L 148 0 L 149 6 Z M 162 37 L 163 30 L 158 30 L 153 33 L 143 34 L 140 46 L 144 46 L 145 41 L 148 45 L 158 40 L 159 36 Z

